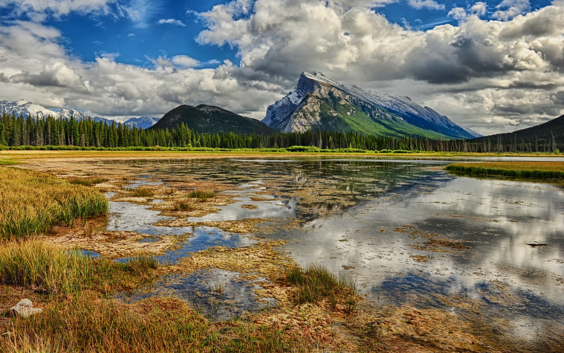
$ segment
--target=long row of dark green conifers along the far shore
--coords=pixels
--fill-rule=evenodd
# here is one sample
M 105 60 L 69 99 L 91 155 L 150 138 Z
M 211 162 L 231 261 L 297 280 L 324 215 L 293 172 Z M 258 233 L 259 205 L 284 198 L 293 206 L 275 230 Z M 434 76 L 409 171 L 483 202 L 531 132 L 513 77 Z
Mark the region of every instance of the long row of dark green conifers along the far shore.
M 0 119 L 1 146 L 80 146 L 80 147 L 208 147 L 220 149 L 280 149 L 291 146 L 313 146 L 324 150 L 402 150 L 445 152 L 554 152 L 562 148 L 552 140 L 530 143 L 430 139 L 407 135 L 391 137 L 358 132 L 320 131 L 272 134 L 236 134 L 232 132 L 199 133 L 184 123 L 169 129 L 142 129 L 112 121 L 23 116 L 2 113 Z M 479 139 L 478 139 L 479 140 Z

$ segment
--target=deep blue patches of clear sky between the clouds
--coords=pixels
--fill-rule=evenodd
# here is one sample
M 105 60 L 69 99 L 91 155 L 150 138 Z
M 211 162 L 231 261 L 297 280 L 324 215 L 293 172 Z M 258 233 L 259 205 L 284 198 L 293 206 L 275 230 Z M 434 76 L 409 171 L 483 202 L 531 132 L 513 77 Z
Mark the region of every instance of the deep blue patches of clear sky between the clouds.
M 484 1 L 488 5 L 488 12 L 482 16 L 491 19 L 496 6 L 501 0 Z M 139 7 L 147 7 L 140 19 L 131 19 L 114 14 L 81 14 L 70 13 L 60 18 L 50 17 L 46 25 L 61 30 L 64 36 L 64 46 L 73 55 L 82 60 L 92 61 L 103 53 L 117 54 L 116 61 L 138 66 L 151 66 L 148 58 L 158 56 L 188 55 L 202 63 L 210 60 L 223 62 L 229 59 L 238 63 L 237 49 L 230 45 L 200 45 L 195 38 L 206 29 L 197 13 L 211 10 L 214 5 L 227 1 L 174 1 L 161 0 L 153 2 L 139 1 Z M 475 1 L 440 1 L 437 3 L 444 8 L 428 7 L 416 8 L 408 1 L 390 3 L 385 6 L 374 7 L 374 11 L 383 14 L 392 23 L 411 26 L 416 30 L 428 30 L 435 25 L 456 25 L 457 20 L 448 16 L 454 7 L 470 7 Z M 533 1 L 532 10 L 547 6 L 548 0 Z M 135 6 L 135 5 L 134 5 Z M 174 19 L 176 23 L 158 24 L 159 20 Z M 202 67 L 217 67 L 218 64 L 204 64 Z

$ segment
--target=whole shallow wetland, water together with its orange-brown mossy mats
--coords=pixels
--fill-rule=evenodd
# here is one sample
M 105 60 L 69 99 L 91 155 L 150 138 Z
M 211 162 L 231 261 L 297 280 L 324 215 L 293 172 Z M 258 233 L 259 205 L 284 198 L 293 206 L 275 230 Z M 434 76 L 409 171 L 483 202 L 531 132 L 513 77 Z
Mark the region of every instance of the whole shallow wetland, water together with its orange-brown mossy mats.
M 293 351 L 563 351 L 564 185 L 445 171 L 453 162 L 232 156 L 25 168 L 108 199 L 107 215 L 55 225 L 49 242 L 162 264 L 143 285 L 108 291 L 112 305 L 174 299 L 226 337 L 226 323 L 259 324 L 303 343 Z M 317 267 L 354 293 L 300 299 L 316 293 L 306 284 Z M 296 268 L 305 274 L 290 276 Z

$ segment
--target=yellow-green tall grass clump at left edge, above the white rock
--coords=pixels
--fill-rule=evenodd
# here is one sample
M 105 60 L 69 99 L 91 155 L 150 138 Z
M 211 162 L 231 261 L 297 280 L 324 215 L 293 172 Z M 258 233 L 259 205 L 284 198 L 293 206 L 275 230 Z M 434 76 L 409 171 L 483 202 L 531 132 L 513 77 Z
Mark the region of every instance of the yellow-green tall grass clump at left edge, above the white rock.
M 90 258 L 38 239 L 0 246 L 0 281 L 49 294 L 80 291 L 90 277 Z

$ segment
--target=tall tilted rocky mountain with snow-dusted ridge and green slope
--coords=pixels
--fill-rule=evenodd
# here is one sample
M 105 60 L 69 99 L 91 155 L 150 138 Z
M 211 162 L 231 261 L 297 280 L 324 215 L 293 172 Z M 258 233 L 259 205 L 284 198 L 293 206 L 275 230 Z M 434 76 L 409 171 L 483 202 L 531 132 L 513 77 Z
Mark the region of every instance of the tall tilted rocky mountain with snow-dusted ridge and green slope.
M 356 85 L 349 89 L 321 72 L 303 72 L 296 87 L 268 107 L 262 121 L 281 132 L 319 128 L 391 136 L 481 136 L 429 107 L 421 107 L 409 97 L 365 91 Z

